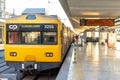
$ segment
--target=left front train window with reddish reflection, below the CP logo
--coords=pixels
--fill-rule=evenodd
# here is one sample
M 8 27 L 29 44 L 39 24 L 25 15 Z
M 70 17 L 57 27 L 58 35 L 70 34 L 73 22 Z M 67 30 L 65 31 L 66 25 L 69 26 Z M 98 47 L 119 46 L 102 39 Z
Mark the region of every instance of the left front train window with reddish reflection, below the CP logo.
M 8 42 L 9 44 L 20 43 L 20 32 L 8 32 Z

